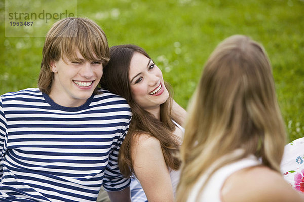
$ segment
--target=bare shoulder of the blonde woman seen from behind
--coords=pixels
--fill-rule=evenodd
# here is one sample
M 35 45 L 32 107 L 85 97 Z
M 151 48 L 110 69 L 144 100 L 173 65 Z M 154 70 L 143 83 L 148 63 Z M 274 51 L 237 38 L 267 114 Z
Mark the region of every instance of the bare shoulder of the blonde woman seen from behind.
M 265 166 L 233 173 L 225 181 L 221 196 L 223 202 L 304 201 L 304 196 L 292 189 L 280 173 Z

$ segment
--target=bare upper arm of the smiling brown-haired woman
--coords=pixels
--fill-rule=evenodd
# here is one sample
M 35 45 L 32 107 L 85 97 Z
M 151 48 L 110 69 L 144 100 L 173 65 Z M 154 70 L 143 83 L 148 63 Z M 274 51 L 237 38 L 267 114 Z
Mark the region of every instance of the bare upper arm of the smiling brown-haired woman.
M 132 143 L 133 168 L 149 202 L 173 202 L 173 188 L 160 142 L 138 135 Z

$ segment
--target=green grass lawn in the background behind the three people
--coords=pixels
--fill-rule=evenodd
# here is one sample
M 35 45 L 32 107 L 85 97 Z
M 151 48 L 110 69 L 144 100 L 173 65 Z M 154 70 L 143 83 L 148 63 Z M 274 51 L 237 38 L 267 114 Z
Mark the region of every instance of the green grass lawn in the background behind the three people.
M 0 8 L 3 13 L 4 0 Z M 290 141 L 304 137 L 303 11 L 303 0 L 77 1 L 77 15 L 95 20 L 110 46 L 132 43 L 146 49 L 185 108 L 220 41 L 245 34 L 262 43 Z M 36 87 L 44 39 L 5 38 L 4 32 L 3 20 L 0 94 Z

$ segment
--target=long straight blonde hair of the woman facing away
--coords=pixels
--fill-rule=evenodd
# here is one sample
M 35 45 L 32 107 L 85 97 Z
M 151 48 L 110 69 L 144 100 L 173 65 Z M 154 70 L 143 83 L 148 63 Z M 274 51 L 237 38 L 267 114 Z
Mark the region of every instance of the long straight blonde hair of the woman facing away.
M 186 201 L 199 176 L 248 154 L 280 172 L 286 133 L 262 45 L 242 35 L 221 42 L 206 62 L 189 106 L 177 201 Z

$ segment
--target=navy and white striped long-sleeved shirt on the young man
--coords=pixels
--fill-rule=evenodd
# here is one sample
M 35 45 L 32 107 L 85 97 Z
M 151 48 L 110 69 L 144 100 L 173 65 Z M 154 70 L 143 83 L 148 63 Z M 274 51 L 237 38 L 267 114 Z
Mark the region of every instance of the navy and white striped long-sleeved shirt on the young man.
M 129 186 L 117 158 L 131 110 L 102 91 L 75 108 L 36 88 L 0 97 L 0 201 L 96 201 L 101 185 Z

